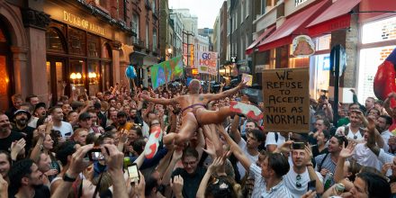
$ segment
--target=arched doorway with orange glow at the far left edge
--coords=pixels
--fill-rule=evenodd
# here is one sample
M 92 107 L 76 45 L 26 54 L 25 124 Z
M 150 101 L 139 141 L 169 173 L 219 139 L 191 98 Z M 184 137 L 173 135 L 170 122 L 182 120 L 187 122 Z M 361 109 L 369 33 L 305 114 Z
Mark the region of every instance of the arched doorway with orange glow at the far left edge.
M 12 70 L 11 39 L 3 21 L 0 20 L 0 111 L 11 106 L 11 95 L 14 94 L 14 77 Z

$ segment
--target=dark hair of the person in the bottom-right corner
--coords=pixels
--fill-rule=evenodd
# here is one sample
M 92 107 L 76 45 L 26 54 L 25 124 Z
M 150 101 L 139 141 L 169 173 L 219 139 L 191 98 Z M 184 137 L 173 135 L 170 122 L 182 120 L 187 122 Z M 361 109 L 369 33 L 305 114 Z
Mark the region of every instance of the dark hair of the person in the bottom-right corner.
M 365 189 L 367 189 L 368 197 L 391 197 L 391 186 L 382 175 L 362 172 L 357 174 L 356 177 L 365 181 Z

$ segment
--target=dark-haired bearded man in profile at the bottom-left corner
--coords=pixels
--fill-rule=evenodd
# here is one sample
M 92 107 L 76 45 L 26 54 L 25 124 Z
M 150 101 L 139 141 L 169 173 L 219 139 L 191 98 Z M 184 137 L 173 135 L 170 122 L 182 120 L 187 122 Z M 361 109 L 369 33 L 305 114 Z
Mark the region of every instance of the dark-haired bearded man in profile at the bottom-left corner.
M 43 174 L 33 160 L 26 158 L 17 161 L 8 173 L 9 197 L 50 197 L 49 188 L 43 185 L 42 176 Z

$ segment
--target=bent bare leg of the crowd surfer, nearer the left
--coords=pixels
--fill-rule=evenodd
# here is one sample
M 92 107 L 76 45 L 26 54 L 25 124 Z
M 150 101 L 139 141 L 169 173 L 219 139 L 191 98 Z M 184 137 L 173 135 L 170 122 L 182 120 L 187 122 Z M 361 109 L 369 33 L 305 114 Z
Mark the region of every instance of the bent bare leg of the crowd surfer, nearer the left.
M 164 137 L 164 144 L 171 144 L 175 139 L 175 144 L 181 144 L 191 139 L 193 131 L 198 129 L 198 122 L 193 116 L 193 112 L 187 112 L 183 117 L 183 123 L 179 133 L 170 133 Z

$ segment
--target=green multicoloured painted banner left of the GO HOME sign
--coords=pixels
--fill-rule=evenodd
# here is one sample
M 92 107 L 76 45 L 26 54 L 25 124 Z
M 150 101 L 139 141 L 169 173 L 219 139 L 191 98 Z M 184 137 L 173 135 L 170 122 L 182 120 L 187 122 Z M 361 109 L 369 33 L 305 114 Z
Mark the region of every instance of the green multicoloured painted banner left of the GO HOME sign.
M 183 59 L 182 57 L 175 57 L 152 66 L 150 70 L 151 85 L 153 89 L 157 89 L 158 86 L 183 76 Z

